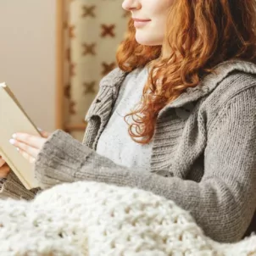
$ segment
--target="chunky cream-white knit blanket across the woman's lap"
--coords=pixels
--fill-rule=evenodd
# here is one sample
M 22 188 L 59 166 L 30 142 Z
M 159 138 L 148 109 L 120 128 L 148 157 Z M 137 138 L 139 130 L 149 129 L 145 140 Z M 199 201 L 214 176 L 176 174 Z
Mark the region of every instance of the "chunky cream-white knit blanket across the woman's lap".
M 256 236 L 220 244 L 174 202 L 135 188 L 79 181 L 31 201 L 0 201 L 0 255 L 256 255 Z

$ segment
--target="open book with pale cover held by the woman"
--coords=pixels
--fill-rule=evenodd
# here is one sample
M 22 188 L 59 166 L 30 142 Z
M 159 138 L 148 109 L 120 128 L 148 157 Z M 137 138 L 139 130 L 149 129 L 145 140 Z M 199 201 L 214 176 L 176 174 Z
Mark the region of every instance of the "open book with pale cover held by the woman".
M 42 136 L 40 131 L 25 114 L 14 93 L 5 83 L 0 83 L 0 155 L 14 171 L 26 189 L 38 186 L 33 173 L 33 164 L 25 159 L 17 149 L 9 143 L 15 132 L 25 132 Z

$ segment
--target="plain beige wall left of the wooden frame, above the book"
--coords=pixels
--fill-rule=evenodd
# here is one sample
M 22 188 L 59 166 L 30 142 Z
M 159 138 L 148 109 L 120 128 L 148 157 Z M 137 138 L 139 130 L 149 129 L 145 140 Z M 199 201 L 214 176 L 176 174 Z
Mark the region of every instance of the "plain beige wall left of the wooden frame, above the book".
M 55 4 L 0 1 L 0 82 L 47 131 L 55 129 Z

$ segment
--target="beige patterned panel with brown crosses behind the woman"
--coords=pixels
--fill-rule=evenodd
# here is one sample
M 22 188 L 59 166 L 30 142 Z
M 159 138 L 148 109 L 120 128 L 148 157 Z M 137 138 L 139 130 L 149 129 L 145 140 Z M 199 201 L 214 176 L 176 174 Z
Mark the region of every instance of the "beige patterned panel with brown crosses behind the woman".
M 116 67 L 129 14 L 120 0 L 64 3 L 64 131 L 81 141 L 99 81 Z

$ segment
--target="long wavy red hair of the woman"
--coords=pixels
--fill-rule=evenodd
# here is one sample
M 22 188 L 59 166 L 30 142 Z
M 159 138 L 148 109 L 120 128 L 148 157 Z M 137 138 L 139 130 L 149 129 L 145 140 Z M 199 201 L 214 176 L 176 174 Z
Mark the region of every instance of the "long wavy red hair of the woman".
M 255 0 L 176 0 L 161 46 L 137 43 L 130 19 L 116 54 L 119 67 L 126 72 L 150 67 L 141 102 L 125 115 L 131 138 L 150 142 L 159 111 L 214 72 L 216 64 L 237 58 L 256 63 L 255 28 Z

